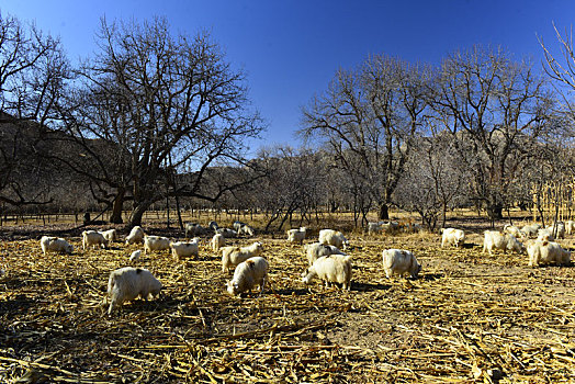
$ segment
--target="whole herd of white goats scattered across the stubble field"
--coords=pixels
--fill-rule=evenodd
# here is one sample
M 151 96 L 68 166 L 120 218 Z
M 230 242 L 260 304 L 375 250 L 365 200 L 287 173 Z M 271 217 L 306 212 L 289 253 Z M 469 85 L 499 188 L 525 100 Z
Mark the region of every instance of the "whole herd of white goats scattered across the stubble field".
M 382 223 L 370 223 L 369 231 L 381 231 Z M 385 224 L 383 225 L 385 228 Z M 529 266 L 537 267 L 542 263 L 568 264 L 571 252 L 563 249 L 554 238 L 563 238 L 565 234 L 571 234 L 575 229 L 574 222 L 556 223 L 554 226 L 542 228 L 539 224 L 529 224 L 522 228 L 506 225 L 503 231 L 486 230 L 484 233 L 483 252 L 492 255 L 494 249 L 503 251 L 515 251 L 522 253 L 527 249 L 529 255 Z M 226 246 L 226 239 L 245 235 L 253 236 L 255 230 L 251 226 L 235 222 L 234 229 L 219 228 L 215 222 L 211 222 L 207 228 L 188 223 L 185 225 L 185 237 L 206 235 L 214 233 L 211 247 L 214 251 L 222 253 L 222 271 L 228 272 L 235 268 L 232 280 L 227 283 L 227 291 L 232 295 L 238 295 L 251 291 L 259 286 L 260 294 L 263 292 L 266 279 L 268 276 L 269 263 L 260 255 L 263 252 L 263 245 L 256 241 L 247 247 Z M 456 228 L 441 229 L 441 247 L 461 247 L 465 241 L 465 233 Z M 303 245 L 307 235 L 307 228 L 288 230 L 288 241 Z M 82 233 L 82 248 L 103 247 L 106 248 L 111 242 L 117 240 L 115 229 L 106 231 L 86 230 Z M 525 245 L 521 242 L 523 241 Z M 66 239 L 43 236 L 41 248 L 44 253 L 47 251 L 72 253 L 74 246 Z M 194 237 L 190 241 L 171 241 L 167 237 L 146 235 L 142 227 L 132 228 L 125 239 L 126 245 L 143 244 L 144 252 L 170 250 L 172 256 L 182 260 L 189 257 L 199 256 L 200 237 Z M 527 246 L 527 247 L 526 247 Z M 340 231 L 334 229 L 322 229 L 317 242 L 306 244 L 304 250 L 308 261 L 307 270 L 302 274 L 302 281 L 308 284 L 314 278 L 324 281 L 326 285 L 338 283 L 345 290 L 350 290 L 351 285 L 351 257 L 343 251 L 349 247 L 348 239 Z M 142 250 L 134 251 L 131 262 L 136 262 L 142 255 Z M 385 275 L 391 278 L 393 274 L 403 275 L 409 273 L 413 279 L 417 279 L 421 270 L 413 252 L 403 249 L 386 249 L 382 253 L 383 269 Z M 148 296 L 158 295 L 162 284 L 146 269 L 124 267 L 110 273 L 108 282 L 108 296 L 104 304 L 110 298 L 108 314 L 121 306 L 126 301 L 132 301 L 138 296 L 147 300 Z

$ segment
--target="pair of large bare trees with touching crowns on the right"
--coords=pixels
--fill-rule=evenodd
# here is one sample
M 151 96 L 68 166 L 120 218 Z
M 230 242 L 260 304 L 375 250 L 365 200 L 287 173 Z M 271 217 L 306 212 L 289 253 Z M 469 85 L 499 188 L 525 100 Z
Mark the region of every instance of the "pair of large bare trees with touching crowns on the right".
M 458 52 L 437 69 L 370 57 L 356 70 L 338 71 L 303 115 L 303 136 L 329 148 L 382 219 L 399 183 L 404 196 L 419 193 L 444 211 L 462 190 L 451 179 L 463 176 L 470 199 L 500 218 L 519 171 L 537 161 L 540 139 L 561 123 L 554 94 L 531 64 L 484 47 Z M 406 179 L 414 182 L 407 187 Z M 416 196 L 397 197 L 413 205 Z

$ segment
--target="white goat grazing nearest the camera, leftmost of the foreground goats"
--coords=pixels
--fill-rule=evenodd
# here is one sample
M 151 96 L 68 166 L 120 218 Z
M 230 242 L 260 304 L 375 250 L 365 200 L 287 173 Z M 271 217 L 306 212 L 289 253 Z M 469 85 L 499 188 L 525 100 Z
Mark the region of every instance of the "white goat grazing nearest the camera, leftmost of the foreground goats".
M 158 295 L 161 283 L 147 269 L 124 267 L 112 271 L 108 280 L 108 295 L 111 296 L 108 315 L 124 302 L 140 296 L 145 301 L 148 295 Z

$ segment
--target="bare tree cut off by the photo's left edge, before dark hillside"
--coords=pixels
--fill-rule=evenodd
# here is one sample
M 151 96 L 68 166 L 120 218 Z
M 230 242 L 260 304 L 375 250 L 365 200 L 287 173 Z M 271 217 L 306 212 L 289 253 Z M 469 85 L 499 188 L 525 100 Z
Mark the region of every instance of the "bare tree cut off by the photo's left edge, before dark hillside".
M 47 203 L 38 181 L 50 169 L 38 156 L 46 149 L 42 132 L 54 117 L 67 76 L 57 39 L 0 14 L 0 201 Z

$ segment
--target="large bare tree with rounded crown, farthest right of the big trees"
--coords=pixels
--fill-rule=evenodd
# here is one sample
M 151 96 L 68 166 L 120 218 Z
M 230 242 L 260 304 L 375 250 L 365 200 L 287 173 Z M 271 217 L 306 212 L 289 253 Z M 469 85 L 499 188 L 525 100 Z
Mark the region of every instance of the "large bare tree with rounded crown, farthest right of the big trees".
M 501 218 L 519 167 L 552 128 L 553 98 L 529 63 L 498 49 L 474 47 L 448 57 L 431 104 L 453 136 L 472 174 L 472 199 Z

